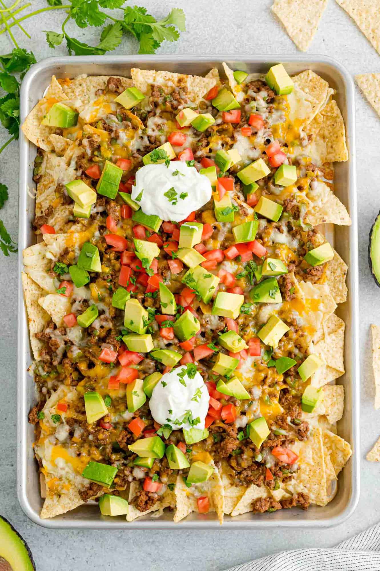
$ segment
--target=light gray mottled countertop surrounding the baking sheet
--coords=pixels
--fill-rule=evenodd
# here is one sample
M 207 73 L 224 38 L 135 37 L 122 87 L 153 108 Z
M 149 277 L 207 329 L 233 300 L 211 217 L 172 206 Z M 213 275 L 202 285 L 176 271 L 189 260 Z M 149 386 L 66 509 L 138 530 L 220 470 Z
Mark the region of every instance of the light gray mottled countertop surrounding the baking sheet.
M 137 2 L 137 0 L 136 0 Z M 10 4 L 11 2 L 7 2 Z M 164 42 L 160 53 L 176 54 L 296 54 L 293 42 L 270 11 L 272 0 L 144 0 L 141 3 L 156 17 L 167 14 L 171 7 L 182 7 L 187 17 L 187 31 L 180 41 Z M 131 4 L 131 3 L 130 3 Z M 131 4 L 132 5 L 132 4 Z M 33 9 L 45 7 L 44 0 L 34 0 Z M 25 10 L 24 13 L 31 11 Z M 39 14 L 25 22 L 32 35 L 28 40 L 13 28 L 21 47 L 33 50 L 37 61 L 51 55 L 66 55 L 66 47 L 51 50 L 41 30 L 60 31 L 64 14 L 60 10 Z M 70 25 L 71 26 L 71 25 Z M 97 42 L 98 30 L 69 28 L 81 41 Z M 4 34 L 0 51 L 7 53 L 13 45 Z M 124 40 L 114 53 L 134 53 L 134 40 Z M 329 55 L 341 62 L 351 74 L 379 72 L 380 58 L 361 34 L 355 23 L 333 0 L 320 23 L 312 54 Z M 136 56 L 138 58 L 138 56 Z M 281 57 L 279 58 L 281 59 Z M 380 412 L 373 408 L 374 387 L 370 364 L 370 324 L 380 325 L 380 290 L 371 279 L 367 263 L 367 238 L 380 208 L 379 141 L 380 119 L 355 91 L 357 116 L 357 173 L 360 279 L 361 341 L 361 499 L 353 516 L 345 524 L 326 530 L 231 531 L 67 531 L 48 530 L 33 524 L 23 514 L 16 495 L 16 344 L 17 256 L 1 257 L 0 299 L 0 512 L 25 537 L 39 571 L 71 571 L 72 569 L 117 568 L 126 561 L 144 564 L 147 571 L 223 570 L 229 566 L 261 557 L 282 549 L 331 547 L 379 520 L 380 496 L 377 493 L 380 468 L 365 460 L 367 451 L 380 434 Z M 5 142 L 0 129 L 0 146 Z M 18 219 L 18 147 L 12 143 L 2 153 L 0 180 L 7 184 L 10 198 L 0 212 L 13 238 L 17 237 Z M 169 548 L 170 545 L 170 548 Z M 169 548 L 169 549 L 168 549 Z M 143 557 L 143 558 L 142 558 Z

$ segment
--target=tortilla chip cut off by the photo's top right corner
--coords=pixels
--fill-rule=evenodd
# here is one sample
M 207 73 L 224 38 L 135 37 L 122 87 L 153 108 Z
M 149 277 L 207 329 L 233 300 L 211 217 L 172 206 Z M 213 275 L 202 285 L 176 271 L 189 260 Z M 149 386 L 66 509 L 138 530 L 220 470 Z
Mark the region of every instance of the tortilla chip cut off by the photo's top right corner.
M 336 0 L 357 23 L 359 29 L 380 54 L 380 12 L 378 0 Z

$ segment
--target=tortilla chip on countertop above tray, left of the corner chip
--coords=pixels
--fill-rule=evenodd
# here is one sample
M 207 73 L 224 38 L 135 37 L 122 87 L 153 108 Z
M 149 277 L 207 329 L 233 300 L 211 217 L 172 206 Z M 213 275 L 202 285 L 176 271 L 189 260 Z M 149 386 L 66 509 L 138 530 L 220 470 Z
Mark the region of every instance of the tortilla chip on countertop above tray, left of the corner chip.
M 299 50 L 306 51 L 312 43 L 328 0 L 274 0 L 272 12 L 285 26 L 290 39 Z

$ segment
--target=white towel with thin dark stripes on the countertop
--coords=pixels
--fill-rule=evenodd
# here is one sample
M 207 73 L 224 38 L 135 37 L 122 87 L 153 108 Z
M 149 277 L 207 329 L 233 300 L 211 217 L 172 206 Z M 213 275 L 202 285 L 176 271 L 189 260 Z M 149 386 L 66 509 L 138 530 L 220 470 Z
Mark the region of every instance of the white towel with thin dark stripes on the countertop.
M 242 563 L 228 571 L 379 571 L 380 524 L 334 549 L 292 549 Z

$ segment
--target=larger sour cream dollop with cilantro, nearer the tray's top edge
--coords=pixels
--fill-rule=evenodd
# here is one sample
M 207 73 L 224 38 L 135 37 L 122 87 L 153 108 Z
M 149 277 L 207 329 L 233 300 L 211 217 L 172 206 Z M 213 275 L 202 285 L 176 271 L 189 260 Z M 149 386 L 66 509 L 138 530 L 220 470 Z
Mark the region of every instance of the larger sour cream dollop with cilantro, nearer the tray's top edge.
M 171 161 L 168 166 L 146 164 L 136 172 L 132 187 L 132 199 L 140 198 L 137 202 L 144 214 L 155 214 L 173 222 L 181 222 L 201 208 L 211 199 L 211 194 L 207 176 L 182 160 Z

